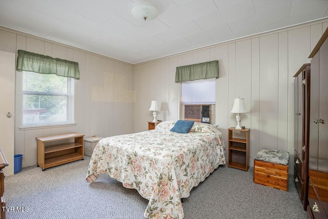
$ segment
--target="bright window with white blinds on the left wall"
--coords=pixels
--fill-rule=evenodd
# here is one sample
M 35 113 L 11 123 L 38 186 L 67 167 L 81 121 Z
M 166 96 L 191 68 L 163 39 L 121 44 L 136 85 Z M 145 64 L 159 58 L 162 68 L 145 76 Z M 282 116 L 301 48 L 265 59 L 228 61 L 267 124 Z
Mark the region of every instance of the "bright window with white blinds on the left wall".
M 22 127 L 74 122 L 74 79 L 23 71 Z

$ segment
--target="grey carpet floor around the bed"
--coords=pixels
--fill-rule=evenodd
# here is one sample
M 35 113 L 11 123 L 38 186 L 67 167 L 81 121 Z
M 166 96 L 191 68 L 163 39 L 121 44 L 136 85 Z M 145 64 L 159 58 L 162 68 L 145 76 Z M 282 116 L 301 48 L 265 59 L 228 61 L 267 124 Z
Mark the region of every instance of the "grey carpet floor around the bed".
M 85 180 L 90 157 L 5 178 L 6 218 L 144 218 L 148 200 L 107 174 Z M 292 175 L 285 192 L 253 183 L 248 172 L 220 166 L 183 199 L 185 218 L 306 218 Z

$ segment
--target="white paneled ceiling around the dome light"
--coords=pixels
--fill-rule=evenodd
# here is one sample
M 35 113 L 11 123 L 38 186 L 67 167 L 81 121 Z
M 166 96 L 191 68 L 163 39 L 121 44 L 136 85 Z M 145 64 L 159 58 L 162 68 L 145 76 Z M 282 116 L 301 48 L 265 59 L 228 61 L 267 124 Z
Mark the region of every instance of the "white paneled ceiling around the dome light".
M 328 16 L 328 0 L 1 0 L 0 26 L 131 64 Z

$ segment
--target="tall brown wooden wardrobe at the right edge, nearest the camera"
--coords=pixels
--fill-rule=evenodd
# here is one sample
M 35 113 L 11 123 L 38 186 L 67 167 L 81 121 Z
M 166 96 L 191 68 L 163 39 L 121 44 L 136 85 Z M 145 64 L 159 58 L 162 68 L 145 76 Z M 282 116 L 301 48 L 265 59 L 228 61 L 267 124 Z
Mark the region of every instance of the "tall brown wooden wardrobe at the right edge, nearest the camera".
M 308 218 L 328 218 L 328 29 L 310 54 Z

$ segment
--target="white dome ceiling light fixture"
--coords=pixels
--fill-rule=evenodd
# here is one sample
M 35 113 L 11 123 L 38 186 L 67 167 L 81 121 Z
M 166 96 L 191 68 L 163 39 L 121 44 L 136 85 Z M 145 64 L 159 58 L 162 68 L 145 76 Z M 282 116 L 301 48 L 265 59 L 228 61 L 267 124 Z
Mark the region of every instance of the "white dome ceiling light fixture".
M 150 21 L 158 16 L 158 10 L 153 2 L 141 0 L 135 3 L 135 6 L 131 10 L 131 14 L 138 20 L 144 19 L 146 21 L 147 19 Z

